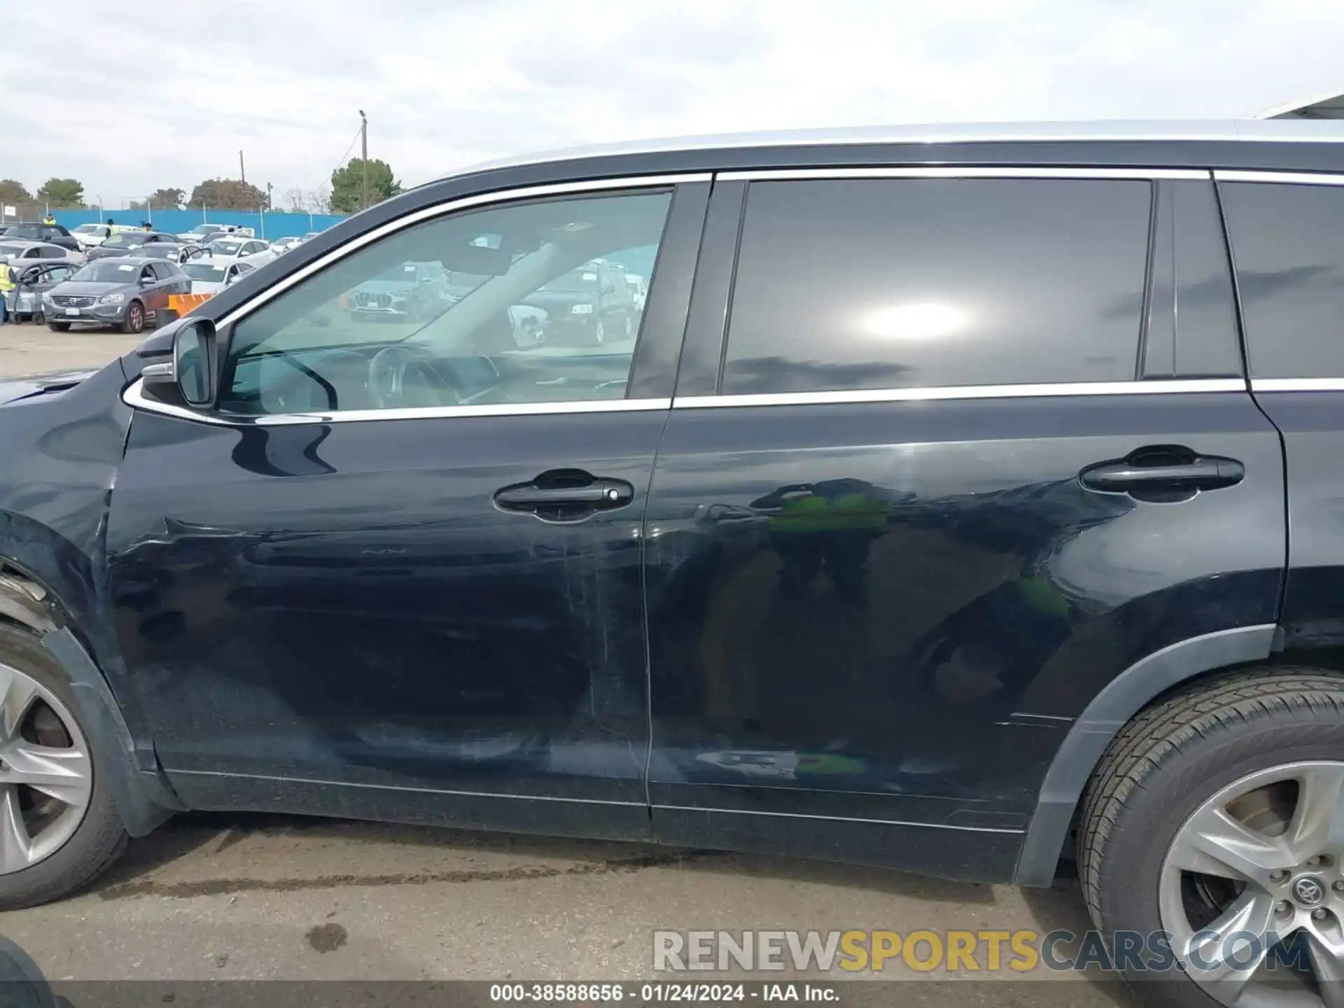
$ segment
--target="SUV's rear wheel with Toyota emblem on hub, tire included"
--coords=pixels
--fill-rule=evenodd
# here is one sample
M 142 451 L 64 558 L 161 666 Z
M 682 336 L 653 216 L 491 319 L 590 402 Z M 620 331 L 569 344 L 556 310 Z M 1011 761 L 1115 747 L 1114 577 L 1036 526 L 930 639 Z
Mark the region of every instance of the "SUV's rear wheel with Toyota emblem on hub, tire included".
M 1167 935 L 1175 969 L 1118 964 L 1145 1004 L 1344 1004 L 1344 676 L 1253 669 L 1141 712 L 1089 785 L 1078 867 L 1117 948 Z

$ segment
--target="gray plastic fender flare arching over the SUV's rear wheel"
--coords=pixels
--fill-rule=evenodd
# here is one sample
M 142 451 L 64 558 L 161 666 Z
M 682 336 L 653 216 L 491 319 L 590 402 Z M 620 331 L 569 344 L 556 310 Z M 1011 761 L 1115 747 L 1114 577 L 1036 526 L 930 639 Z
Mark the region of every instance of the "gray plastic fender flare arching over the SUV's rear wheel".
M 1074 722 L 1046 771 L 1027 839 L 1017 856 L 1019 886 L 1050 886 L 1068 839 L 1074 809 L 1093 769 L 1124 724 L 1154 696 L 1202 672 L 1262 661 L 1274 650 L 1275 624 L 1236 626 L 1177 641 L 1116 676 Z

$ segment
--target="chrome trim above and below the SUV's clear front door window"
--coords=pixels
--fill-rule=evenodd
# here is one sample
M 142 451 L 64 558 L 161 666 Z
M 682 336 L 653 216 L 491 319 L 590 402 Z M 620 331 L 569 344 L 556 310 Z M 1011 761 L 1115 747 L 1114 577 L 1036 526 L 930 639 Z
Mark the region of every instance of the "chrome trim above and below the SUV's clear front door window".
M 681 172 L 675 175 L 632 175 L 620 179 L 586 179 L 583 181 L 552 183 L 547 185 L 527 185 L 516 190 L 501 190 L 499 192 L 482 192 L 474 196 L 437 203 L 433 207 L 423 207 L 414 214 L 388 220 L 371 231 L 367 231 L 351 241 L 332 249 L 321 258 L 314 259 L 296 273 L 270 285 L 265 290 L 258 290 L 254 297 L 238 305 L 223 319 L 215 323 L 215 328 L 223 329 L 227 325 L 246 319 L 258 308 L 280 297 L 290 288 L 308 280 L 314 273 L 340 262 L 367 245 L 386 238 L 387 235 L 403 231 L 407 227 L 433 220 L 438 216 L 470 210 L 474 207 L 488 207 L 500 203 L 515 203 L 526 199 L 539 199 L 544 196 L 567 196 L 578 194 L 598 194 L 605 191 L 625 191 L 661 188 L 667 185 L 684 185 L 687 183 L 711 181 L 712 172 Z M 282 423 L 351 423 L 368 419 L 429 419 L 437 417 L 532 417 L 569 413 L 633 413 L 641 410 L 665 410 L 671 405 L 669 399 L 579 399 L 575 402 L 550 403 L 511 403 L 501 406 L 444 406 L 413 410 L 347 410 L 333 413 L 280 413 L 263 417 L 238 417 L 234 414 L 204 413 L 188 410 L 181 406 L 163 403 L 151 399 L 144 392 L 144 382 L 136 379 L 121 394 L 122 402 L 138 410 L 161 413 L 167 417 L 191 419 L 202 423 L 218 426 L 278 426 Z

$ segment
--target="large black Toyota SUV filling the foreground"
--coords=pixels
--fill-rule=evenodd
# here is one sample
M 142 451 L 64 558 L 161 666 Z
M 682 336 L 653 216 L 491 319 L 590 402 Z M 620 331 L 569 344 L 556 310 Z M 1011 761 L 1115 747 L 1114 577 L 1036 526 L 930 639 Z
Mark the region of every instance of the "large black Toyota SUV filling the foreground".
M 1176 1003 L 1290 943 L 1337 1003 L 1341 141 L 499 164 L 15 386 L 0 906 L 177 809 L 1077 862 L 1099 927 L 1167 935 Z M 598 261 L 652 270 L 630 325 L 521 345 Z M 472 281 L 356 324 L 405 263 Z

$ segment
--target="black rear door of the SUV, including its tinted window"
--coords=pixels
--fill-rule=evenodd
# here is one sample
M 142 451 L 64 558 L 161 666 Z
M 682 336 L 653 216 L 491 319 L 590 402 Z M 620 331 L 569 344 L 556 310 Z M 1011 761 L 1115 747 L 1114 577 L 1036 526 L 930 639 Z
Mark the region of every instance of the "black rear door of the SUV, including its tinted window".
M 646 526 L 655 832 L 1008 878 L 1107 681 L 1274 621 L 1279 441 L 1207 172 L 848 175 L 715 183 Z

